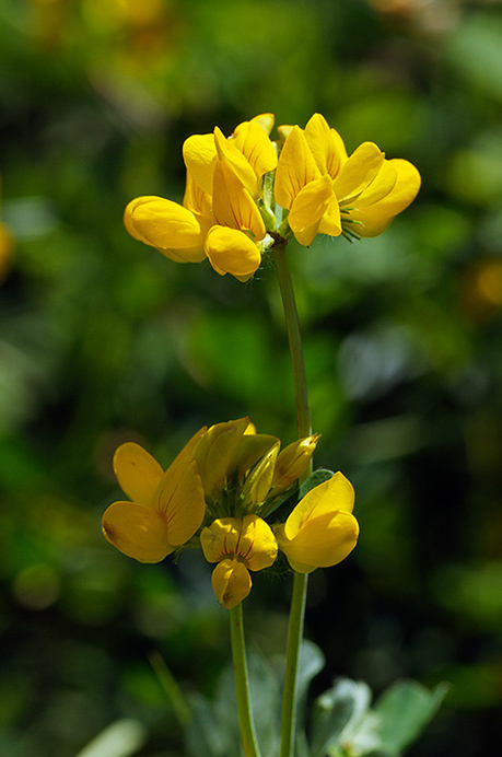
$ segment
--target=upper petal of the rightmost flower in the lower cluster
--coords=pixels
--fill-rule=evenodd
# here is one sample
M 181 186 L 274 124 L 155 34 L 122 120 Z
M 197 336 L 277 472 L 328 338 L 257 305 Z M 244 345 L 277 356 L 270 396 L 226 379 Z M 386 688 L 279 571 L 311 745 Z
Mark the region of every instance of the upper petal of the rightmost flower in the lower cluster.
M 285 536 L 293 539 L 311 517 L 339 510 L 352 512 L 354 506 L 354 490 L 352 484 L 340 471 L 329 480 L 311 489 L 294 508 L 285 522 Z

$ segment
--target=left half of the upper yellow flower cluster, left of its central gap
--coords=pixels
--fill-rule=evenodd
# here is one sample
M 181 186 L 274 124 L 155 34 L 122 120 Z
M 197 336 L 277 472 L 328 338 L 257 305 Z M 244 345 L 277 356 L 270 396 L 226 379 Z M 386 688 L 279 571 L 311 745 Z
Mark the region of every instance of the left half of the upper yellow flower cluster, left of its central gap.
M 261 177 L 277 165 L 268 137 L 273 117 L 262 114 L 240 124 L 230 139 L 211 135 L 185 140 L 187 184 L 183 205 L 161 197 L 138 197 L 124 223 L 135 238 L 176 263 L 208 257 L 214 270 L 247 281 L 261 263 L 266 229 L 255 200 Z

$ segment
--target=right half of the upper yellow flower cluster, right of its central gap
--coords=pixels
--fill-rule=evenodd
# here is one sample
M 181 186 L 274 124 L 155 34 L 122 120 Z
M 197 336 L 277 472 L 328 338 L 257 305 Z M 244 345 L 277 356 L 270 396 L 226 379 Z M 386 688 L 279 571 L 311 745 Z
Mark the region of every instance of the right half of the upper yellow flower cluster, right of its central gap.
M 340 135 L 318 113 L 304 131 L 294 126 L 285 133 L 275 191 L 300 244 L 308 246 L 316 234 L 375 236 L 420 188 L 411 163 L 387 161 L 373 142 L 348 156 Z

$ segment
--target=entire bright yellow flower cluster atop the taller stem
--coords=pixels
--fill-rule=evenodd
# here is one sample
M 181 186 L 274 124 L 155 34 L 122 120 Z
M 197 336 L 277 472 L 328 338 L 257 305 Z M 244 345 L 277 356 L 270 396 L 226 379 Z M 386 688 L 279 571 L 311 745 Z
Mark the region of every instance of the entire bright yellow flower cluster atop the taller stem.
M 386 160 L 373 142 L 349 156 L 320 114 L 305 129 L 279 127 L 272 114 L 240 124 L 227 139 L 194 135 L 183 145 L 187 180 L 183 205 L 138 197 L 125 225 L 137 240 L 177 263 L 206 257 L 223 276 L 247 281 L 261 255 L 294 235 L 375 236 L 415 199 L 420 174 L 405 160 Z

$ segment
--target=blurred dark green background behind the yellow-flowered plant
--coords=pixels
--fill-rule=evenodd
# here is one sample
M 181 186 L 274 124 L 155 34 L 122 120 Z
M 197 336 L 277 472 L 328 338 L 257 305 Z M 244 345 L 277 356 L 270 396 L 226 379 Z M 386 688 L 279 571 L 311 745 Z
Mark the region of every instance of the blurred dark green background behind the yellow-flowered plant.
M 294 439 L 272 267 L 243 286 L 121 224 L 133 197 L 182 198 L 186 137 L 260 112 L 304 126 L 318 110 L 350 150 L 375 141 L 423 178 L 381 237 L 290 249 L 316 463 L 353 481 L 361 523 L 352 556 L 312 575 L 314 689 L 448 680 L 410 755 L 502 742 L 501 11 L 0 0 L 2 755 L 73 757 L 135 718 L 138 754 L 179 757 L 149 655 L 205 694 L 227 661 L 209 566 L 141 566 L 101 515 L 122 441 L 167 465 L 202 424 L 247 414 Z M 290 589 L 258 574 L 246 601 L 267 654 L 284 650 Z

